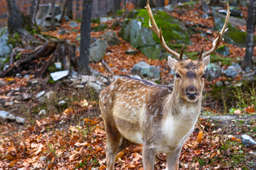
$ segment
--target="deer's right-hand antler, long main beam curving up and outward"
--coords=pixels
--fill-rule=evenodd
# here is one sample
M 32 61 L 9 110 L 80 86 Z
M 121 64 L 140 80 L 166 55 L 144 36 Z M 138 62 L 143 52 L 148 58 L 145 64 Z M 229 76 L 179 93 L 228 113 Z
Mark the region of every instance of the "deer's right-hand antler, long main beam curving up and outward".
M 225 18 L 225 23 L 223 25 L 223 28 L 222 30 L 220 31 L 220 33 L 218 33 L 218 37 L 213 41 L 213 47 L 208 51 L 208 52 L 204 52 L 202 57 L 201 57 L 201 60 L 212 54 L 218 47 L 220 41 L 223 41 L 223 35 L 225 34 L 225 32 L 227 32 L 228 28 L 226 28 L 228 26 L 228 20 L 229 20 L 229 17 L 230 17 L 230 8 L 229 8 L 229 5 L 227 4 L 227 7 L 228 7 L 228 10 L 227 10 L 227 15 L 226 15 L 226 18 Z

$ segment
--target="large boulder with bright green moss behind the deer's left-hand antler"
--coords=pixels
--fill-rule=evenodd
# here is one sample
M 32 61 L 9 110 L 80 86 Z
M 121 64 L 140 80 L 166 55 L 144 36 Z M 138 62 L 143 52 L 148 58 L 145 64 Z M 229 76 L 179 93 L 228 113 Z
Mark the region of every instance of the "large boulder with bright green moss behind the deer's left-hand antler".
M 186 26 L 176 18 L 169 16 L 164 11 L 152 11 L 156 24 L 161 28 L 166 44 L 170 47 L 181 48 L 183 43 L 191 44 L 190 36 Z M 142 51 L 144 55 L 151 59 L 159 59 L 163 54 L 163 47 L 157 35 L 149 28 L 149 14 L 146 9 L 131 11 L 122 23 L 119 36 L 125 41 L 130 42 L 132 47 Z M 173 43 L 174 42 L 174 43 Z M 152 51 L 155 49 L 156 51 Z M 150 52 L 149 52 L 150 51 Z

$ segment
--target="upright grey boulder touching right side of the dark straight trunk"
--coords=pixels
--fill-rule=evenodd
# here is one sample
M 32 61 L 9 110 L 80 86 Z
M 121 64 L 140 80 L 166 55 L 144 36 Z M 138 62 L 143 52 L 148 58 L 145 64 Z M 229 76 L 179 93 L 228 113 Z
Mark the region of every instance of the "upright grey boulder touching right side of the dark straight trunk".
M 100 62 L 105 55 L 108 44 L 106 40 L 96 40 L 90 45 L 90 56 L 89 60 L 91 62 Z

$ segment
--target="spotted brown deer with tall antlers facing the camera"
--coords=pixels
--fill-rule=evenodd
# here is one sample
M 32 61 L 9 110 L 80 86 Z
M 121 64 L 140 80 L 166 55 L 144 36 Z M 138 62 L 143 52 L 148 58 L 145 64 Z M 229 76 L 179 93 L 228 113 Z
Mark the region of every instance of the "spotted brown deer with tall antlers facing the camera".
M 210 54 L 224 40 L 223 35 L 228 30 L 229 6 L 223 28 L 211 49 L 203 52 L 202 47 L 198 60 L 183 60 L 184 45 L 179 54 L 171 50 L 154 21 L 149 0 L 145 8 L 149 13 L 149 28 L 156 33 L 164 49 L 178 59 L 168 57 L 169 67 L 176 73 L 174 85 L 119 77 L 100 92 L 99 105 L 107 137 L 107 170 L 114 169 L 117 153 L 132 143 L 143 145 L 144 169 L 154 169 L 158 152 L 166 154 L 167 169 L 178 169 L 183 144 L 201 113 L 204 72 L 210 63 Z

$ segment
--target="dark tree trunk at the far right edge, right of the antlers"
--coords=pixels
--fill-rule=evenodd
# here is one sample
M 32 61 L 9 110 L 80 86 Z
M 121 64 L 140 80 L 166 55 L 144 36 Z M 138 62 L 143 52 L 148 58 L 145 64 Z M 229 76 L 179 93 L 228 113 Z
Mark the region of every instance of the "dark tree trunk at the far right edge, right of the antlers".
M 247 36 L 246 36 L 246 51 L 245 58 L 242 62 L 242 67 L 250 67 L 252 64 L 253 55 L 253 33 L 255 30 L 255 20 L 256 20 L 256 0 L 250 0 L 250 4 L 247 12 Z

